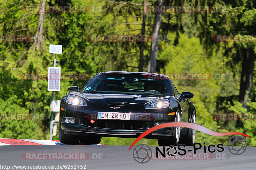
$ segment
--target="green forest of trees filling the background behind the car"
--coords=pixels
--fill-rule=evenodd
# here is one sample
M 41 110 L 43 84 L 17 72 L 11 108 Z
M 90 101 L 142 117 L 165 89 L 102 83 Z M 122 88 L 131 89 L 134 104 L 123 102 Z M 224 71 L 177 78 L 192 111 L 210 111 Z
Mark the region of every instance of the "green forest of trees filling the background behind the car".
M 40 4 L 40 0 L 26 1 Z M 46 0 L 46 5 L 101 6 L 102 11 L 85 13 L 45 13 L 42 54 L 35 43 L 38 14 L 22 10 L 25 1 L 0 3 L 0 34 L 29 35 L 30 42 L 0 42 L 0 114 L 26 113 L 42 115 L 37 120 L 0 120 L 0 138 L 49 139 L 50 102 L 52 92 L 47 91 L 46 80 L 23 80 L 24 73 L 47 73 L 53 65 L 54 55 L 49 54 L 49 44 L 61 44 L 63 53 L 56 55 L 57 66 L 62 73 L 87 73 L 89 78 L 101 71 L 138 71 L 138 42 L 92 42 L 90 35 L 138 35 L 142 23 L 142 0 L 70 0 L 68 2 Z M 200 1 L 201 2 L 201 1 Z M 156 1 L 148 1 L 155 5 Z M 167 3 L 167 2 L 166 2 Z M 172 4 L 171 4 L 172 3 Z M 198 5 L 197 1 L 174 1 L 165 5 Z M 241 57 L 244 48 L 255 48 L 255 43 L 212 41 L 215 34 L 253 34 L 255 30 L 255 4 L 246 2 L 207 1 L 206 5 L 229 6 L 221 13 L 163 13 L 161 35 L 169 41 L 159 42 L 157 72 L 170 76 L 172 73 L 207 73 L 207 80 L 172 79 L 178 91 L 194 93 L 196 121 L 217 132 L 237 131 L 246 133 L 248 145 L 256 145 L 256 123 L 243 121 L 244 128 L 235 128 L 235 122 L 215 121 L 215 113 L 249 113 L 242 105 L 233 101 L 239 95 Z M 254 6 L 253 6 L 254 5 Z M 18 7 L 20 6 L 20 7 Z M 235 8 L 238 7 L 238 8 Z M 139 16 L 139 17 L 135 17 Z M 146 35 L 153 30 L 154 13 L 147 13 Z M 236 28 L 244 28 L 242 30 Z M 202 45 L 200 44 L 202 43 Z M 144 68 L 147 70 L 150 42 L 145 42 Z M 205 50 L 207 49 L 207 50 Z M 55 99 L 68 93 L 69 86 L 80 89 L 88 80 L 61 80 L 60 92 Z M 253 78 L 252 101 L 248 102 L 250 113 L 256 113 L 255 83 Z M 234 98 L 229 98 L 234 96 Z M 212 137 L 196 132 L 196 142 L 226 144 L 229 137 Z M 58 140 L 58 135 L 53 137 Z M 134 139 L 103 137 L 103 144 L 130 145 Z M 139 143 L 157 145 L 154 139 L 142 139 Z

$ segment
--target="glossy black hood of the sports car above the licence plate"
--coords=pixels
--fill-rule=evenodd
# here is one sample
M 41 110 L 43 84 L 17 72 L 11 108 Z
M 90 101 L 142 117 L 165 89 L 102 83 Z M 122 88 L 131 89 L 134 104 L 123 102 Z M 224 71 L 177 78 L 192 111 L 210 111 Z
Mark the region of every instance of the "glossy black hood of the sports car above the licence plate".
M 170 99 L 170 106 L 175 107 L 178 101 L 173 96 L 149 96 L 133 94 L 110 94 L 110 93 L 81 93 L 70 92 L 69 95 L 76 95 L 86 100 L 87 112 L 124 112 L 124 113 L 158 113 L 165 112 L 164 109 L 145 109 L 145 106 L 154 100 Z M 120 105 L 119 105 L 120 104 Z M 113 109 L 115 108 L 115 109 Z M 117 109 L 116 109 L 117 108 Z

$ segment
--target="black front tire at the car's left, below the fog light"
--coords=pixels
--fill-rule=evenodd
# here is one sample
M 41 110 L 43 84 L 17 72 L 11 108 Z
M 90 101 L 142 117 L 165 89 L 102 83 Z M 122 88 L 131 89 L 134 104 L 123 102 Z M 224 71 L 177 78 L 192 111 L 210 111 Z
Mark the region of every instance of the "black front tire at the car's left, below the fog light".
M 78 137 L 77 135 L 65 135 L 64 132 L 62 132 L 61 123 L 59 121 L 59 139 L 62 144 L 78 144 Z

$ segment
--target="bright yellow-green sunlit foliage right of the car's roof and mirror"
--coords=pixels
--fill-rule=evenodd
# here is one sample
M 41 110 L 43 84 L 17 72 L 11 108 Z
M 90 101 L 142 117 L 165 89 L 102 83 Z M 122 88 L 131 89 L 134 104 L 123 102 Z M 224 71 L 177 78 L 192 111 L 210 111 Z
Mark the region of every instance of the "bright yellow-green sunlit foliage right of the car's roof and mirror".
M 213 114 L 221 113 L 217 108 L 216 101 L 220 97 L 239 94 L 239 77 L 233 77 L 229 68 L 225 67 L 227 58 L 220 53 L 213 53 L 209 58 L 204 53 L 200 41 L 196 37 L 188 38 L 185 34 L 180 34 L 179 44 L 173 45 L 175 35 L 169 34 L 168 39 L 171 43 L 164 46 L 163 52 L 159 58 L 168 58 L 170 61 L 166 67 L 161 70 L 172 79 L 179 92 L 190 91 L 194 93 L 191 99 L 196 106 L 196 123 L 216 132 L 241 132 L 249 135 L 250 127 L 254 129 L 255 121 L 245 121 L 244 129 L 236 129 L 235 121 L 220 122 L 213 119 Z M 170 50 L 172 49 L 172 50 Z M 208 74 L 207 80 L 179 80 L 172 76 L 173 73 L 205 73 Z M 234 101 L 234 106 L 225 105 L 228 113 L 246 113 L 247 109 L 242 104 Z M 248 103 L 251 106 L 252 113 L 255 113 L 255 103 Z M 220 107 L 220 106 L 218 106 Z M 224 112 L 227 113 L 227 112 Z M 254 134 L 255 131 L 251 132 Z M 255 145 L 255 134 L 252 139 L 247 138 L 248 145 Z M 206 144 L 227 144 L 229 137 L 213 137 L 202 132 L 196 132 L 196 142 L 205 142 Z

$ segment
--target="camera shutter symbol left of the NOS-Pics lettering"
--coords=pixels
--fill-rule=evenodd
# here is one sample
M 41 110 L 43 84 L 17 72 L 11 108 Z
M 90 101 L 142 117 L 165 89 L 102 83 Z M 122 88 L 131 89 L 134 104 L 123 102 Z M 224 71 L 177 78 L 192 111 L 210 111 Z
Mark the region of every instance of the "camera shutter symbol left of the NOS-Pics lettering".
M 146 144 L 138 144 L 132 151 L 133 159 L 141 164 L 147 163 L 152 158 L 152 150 Z

